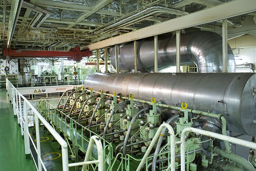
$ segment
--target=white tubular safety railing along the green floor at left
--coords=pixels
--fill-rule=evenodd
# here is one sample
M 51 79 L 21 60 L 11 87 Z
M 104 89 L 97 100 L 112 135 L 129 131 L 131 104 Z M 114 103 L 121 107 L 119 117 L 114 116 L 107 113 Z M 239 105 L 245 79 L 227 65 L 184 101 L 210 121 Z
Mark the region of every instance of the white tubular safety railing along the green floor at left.
M 88 165 L 92 163 L 98 163 L 98 170 L 103 171 L 103 155 L 102 155 L 102 144 L 98 136 L 92 136 L 89 145 L 87 148 L 87 151 L 89 152 L 86 154 L 85 161 L 83 162 L 77 162 L 77 163 L 70 163 L 68 162 L 68 144 L 67 142 L 58 134 L 56 130 L 45 120 L 45 118 L 34 108 L 34 106 L 14 87 L 14 85 L 6 78 L 7 83 L 7 90 L 8 95 L 10 98 L 10 102 L 13 105 L 13 114 L 14 117 L 17 117 L 18 124 L 20 124 L 21 127 L 21 134 L 24 136 L 24 142 L 25 142 L 25 154 L 26 158 L 30 159 L 30 155 L 32 156 L 35 166 L 37 167 L 38 171 L 42 171 L 42 168 L 47 171 L 42 157 L 41 157 L 41 143 L 40 141 L 37 141 L 36 145 L 33 142 L 33 139 L 29 133 L 29 127 L 28 127 L 28 113 L 27 109 L 28 107 L 31 109 L 31 111 L 34 114 L 34 124 L 35 124 L 35 134 L 36 139 L 40 140 L 40 130 L 39 130 L 39 120 L 44 125 L 44 127 L 52 134 L 52 136 L 56 139 L 56 141 L 61 146 L 61 153 L 62 153 L 62 170 L 68 171 L 69 167 L 72 166 L 81 166 L 81 165 Z M 22 108 L 23 104 L 23 108 Z M 37 156 L 33 156 L 31 149 L 30 149 L 30 140 L 32 142 L 32 145 L 35 149 L 35 152 Z M 91 155 L 91 149 L 93 148 L 94 142 L 96 143 L 97 152 L 98 152 L 98 159 L 87 161 L 89 160 L 89 157 Z M 35 157 L 37 157 L 37 163 L 35 162 Z

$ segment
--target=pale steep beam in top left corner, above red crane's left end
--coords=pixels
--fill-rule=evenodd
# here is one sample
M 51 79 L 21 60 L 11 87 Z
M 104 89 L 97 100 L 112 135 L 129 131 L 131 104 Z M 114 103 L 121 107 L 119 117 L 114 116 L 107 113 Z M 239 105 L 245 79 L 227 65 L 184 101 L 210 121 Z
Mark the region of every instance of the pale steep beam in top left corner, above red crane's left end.
M 9 49 L 12 42 L 13 33 L 16 27 L 16 23 L 18 20 L 19 12 L 22 6 L 23 0 L 13 0 L 11 4 L 11 12 L 10 12 L 10 19 L 9 19 L 9 35 L 7 40 L 7 48 Z M 6 17 L 6 16 L 5 16 Z

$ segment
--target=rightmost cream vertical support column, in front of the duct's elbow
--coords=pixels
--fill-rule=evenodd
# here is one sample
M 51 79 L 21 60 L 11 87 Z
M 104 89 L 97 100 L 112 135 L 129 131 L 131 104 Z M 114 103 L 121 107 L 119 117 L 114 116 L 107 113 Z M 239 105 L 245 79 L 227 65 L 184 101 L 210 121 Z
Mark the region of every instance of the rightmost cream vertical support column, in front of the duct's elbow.
M 227 19 L 222 20 L 222 72 L 228 72 L 228 28 Z

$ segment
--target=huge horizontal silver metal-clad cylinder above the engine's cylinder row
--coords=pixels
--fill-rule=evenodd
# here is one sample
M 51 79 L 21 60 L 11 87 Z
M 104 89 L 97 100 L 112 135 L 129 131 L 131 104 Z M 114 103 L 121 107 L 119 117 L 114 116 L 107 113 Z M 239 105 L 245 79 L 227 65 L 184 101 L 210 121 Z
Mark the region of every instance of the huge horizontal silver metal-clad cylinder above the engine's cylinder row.
M 254 73 L 93 73 L 84 87 L 168 105 L 186 102 L 190 109 L 221 113 L 232 130 L 256 136 Z

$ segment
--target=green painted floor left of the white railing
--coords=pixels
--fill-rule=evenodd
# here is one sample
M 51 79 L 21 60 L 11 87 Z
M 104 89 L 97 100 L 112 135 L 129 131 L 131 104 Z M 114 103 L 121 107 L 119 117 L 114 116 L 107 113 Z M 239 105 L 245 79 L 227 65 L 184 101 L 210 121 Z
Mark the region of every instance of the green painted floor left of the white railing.
M 0 170 L 34 171 L 33 160 L 25 159 L 24 140 L 14 119 L 6 89 L 0 89 Z

